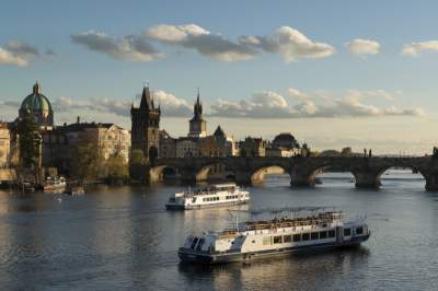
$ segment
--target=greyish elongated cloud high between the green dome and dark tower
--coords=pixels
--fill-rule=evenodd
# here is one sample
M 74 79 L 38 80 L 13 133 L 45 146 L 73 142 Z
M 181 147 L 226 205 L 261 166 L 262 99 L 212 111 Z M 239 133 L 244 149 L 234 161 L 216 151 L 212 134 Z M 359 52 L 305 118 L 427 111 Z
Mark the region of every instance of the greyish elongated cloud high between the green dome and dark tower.
M 74 44 L 100 51 L 115 59 L 128 61 L 151 61 L 161 56 L 148 39 L 138 35 L 126 35 L 116 39 L 104 33 L 88 31 L 70 36 Z

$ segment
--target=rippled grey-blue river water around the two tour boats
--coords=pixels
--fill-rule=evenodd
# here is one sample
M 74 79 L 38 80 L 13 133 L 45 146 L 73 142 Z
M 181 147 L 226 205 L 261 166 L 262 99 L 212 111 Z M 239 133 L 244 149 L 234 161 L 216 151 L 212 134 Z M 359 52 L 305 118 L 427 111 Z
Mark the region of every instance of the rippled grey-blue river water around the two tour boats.
M 180 265 L 193 232 L 231 223 L 226 209 L 171 212 L 182 186 L 102 188 L 80 197 L 0 191 L 1 290 L 438 290 L 438 194 L 406 171 L 380 190 L 355 189 L 348 174 L 315 188 L 269 176 L 245 209 L 336 206 L 367 214 L 359 248 L 222 266 Z M 249 214 L 239 212 L 240 219 Z

